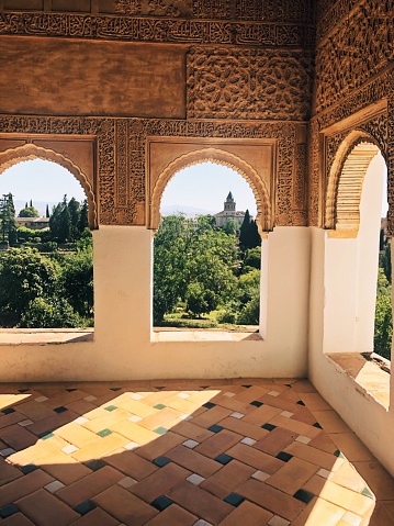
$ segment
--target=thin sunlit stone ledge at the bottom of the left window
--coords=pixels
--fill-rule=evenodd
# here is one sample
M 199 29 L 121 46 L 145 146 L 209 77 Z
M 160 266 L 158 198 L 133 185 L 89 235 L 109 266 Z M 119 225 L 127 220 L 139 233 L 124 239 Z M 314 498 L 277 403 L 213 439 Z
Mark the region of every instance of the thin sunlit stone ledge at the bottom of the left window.
M 2 328 L 2 345 L 46 345 L 93 342 L 93 328 Z

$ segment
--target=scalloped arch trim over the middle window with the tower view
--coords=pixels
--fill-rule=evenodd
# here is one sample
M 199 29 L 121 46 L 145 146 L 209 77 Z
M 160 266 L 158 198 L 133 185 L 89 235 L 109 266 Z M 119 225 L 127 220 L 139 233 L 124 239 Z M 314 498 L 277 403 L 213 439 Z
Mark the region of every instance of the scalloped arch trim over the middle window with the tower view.
M 272 209 L 266 183 L 248 163 L 234 154 L 217 148 L 203 148 L 184 154 L 175 159 L 165 168 L 156 181 L 151 192 L 151 199 L 149 203 L 150 206 L 148 211 L 148 228 L 156 231 L 159 227 L 161 197 L 172 177 L 188 166 L 207 161 L 227 166 L 246 179 L 256 199 L 256 223 L 258 231 L 261 236 L 271 231 L 273 228 Z

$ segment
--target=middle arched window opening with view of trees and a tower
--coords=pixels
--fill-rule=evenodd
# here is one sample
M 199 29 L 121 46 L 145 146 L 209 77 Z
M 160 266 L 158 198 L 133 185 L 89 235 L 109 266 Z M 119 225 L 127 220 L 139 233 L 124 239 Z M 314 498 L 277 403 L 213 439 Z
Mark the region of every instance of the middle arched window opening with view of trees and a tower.
M 160 213 L 155 327 L 257 331 L 261 239 L 248 182 L 226 166 L 199 163 L 169 181 Z

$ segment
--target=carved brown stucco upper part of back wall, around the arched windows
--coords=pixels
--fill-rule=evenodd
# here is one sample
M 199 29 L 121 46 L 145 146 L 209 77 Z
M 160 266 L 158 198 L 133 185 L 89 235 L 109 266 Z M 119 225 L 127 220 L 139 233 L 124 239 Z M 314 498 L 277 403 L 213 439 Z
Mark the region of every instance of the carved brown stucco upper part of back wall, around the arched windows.
M 150 136 L 275 139 L 278 178 L 270 224 L 307 224 L 306 123 L 311 115 L 314 56 L 312 0 L 0 0 L 0 47 L 1 35 L 5 38 L 29 36 L 33 46 L 37 43 L 41 54 L 46 45 L 38 46 L 38 43 L 44 38 L 50 47 L 53 42 L 57 59 L 46 67 L 57 68 L 56 78 L 61 76 L 59 64 L 72 60 L 71 53 L 61 56 L 61 42 L 66 46 L 64 37 L 78 45 L 81 42 L 83 45 L 83 41 L 100 41 L 108 53 L 116 42 L 123 46 L 145 46 L 124 47 L 127 56 L 134 56 L 138 49 L 155 54 L 157 45 L 162 53 L 169 49 L 168 53 L 177 57 L 180 57 L 178 47 L 171 52 L 164 46 L 177 44 L 182 51 L 185 79 L 182 80 L 182 76 L 179 79 L 185 82 L 185 101 L 177 98 L 173 115 L 167 107 L 155 107 L 151 102 L 146 105 L 146 114 L 133 113 L 138 104 L 133 105 L 131 85 L 127 97 L 132 110 L 127 115 L 124 109 L 116 107 L 117 96 L 105 100 L 105 104 L 100 105 L 102 110 L 94 113 L 94 97 L 105 89 L 89 98 L 86 111 L 90 116 L 83 114 L 83 104 L 78 105 L 78 101 L 76 113 L 70 114 L 70 104 L 61 105 L 56 98 L 50 99 L 47 110 L 41 110 L 37 96 L 29 85 L 20 89 L 20 93 L 26 96 L 25 107 L 0 104 L 0 133 L 97 137 L 101 224 L 146 224 L 146 143 Z M 9 54 L 11 42 L 7 41 Z M 67 46 L 70 48 L 70 44 Z M 93 90 L 98 86 L 93 80 L 98 61 L 94 52 L 89 49 L 87 53 L 94 59 L 83 63 L 78 78 Z M 14 68 L 15 89 L 18 82 L 22 82 L 18 74 L 23 64 L 15 65 L 20 57 L 21 54 L 15 54 L 15 60 L 7 61 L 8 68 Z M 181 58 L 177 60 L 177 67 L 182 67 Z M 71 66 L 77 67 L 75 63 Z M 156 81 L 153 77 L 151 83 L 156 86 Z M 144 90 L 135 82 L 134 94 L 140 98 Z M 149 80 L 146 82 L 148 86 Z M 5 88 L 4 85 L 4 91 Z M 149 89 L 145 91 L 148 99 Z M 52 90 L 54 92 L 56 90 Z M 143 102 L 140 100 L 139 108 Z M 182 114 L 182 104 L 185 119 L 177 117 Z M 168 119 L 170 116 L 173 119 Z

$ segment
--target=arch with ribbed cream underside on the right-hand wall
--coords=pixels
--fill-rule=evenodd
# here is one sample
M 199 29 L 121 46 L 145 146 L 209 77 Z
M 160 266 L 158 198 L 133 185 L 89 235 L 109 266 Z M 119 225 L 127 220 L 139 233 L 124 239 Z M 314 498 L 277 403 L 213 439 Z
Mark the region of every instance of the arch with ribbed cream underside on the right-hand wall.
M 351 132 L 338 148 L 327 184 L 325 227 L 354 237 L 360 225 L 362 183 L 371 160 L 380 153 L 376 141 Z

